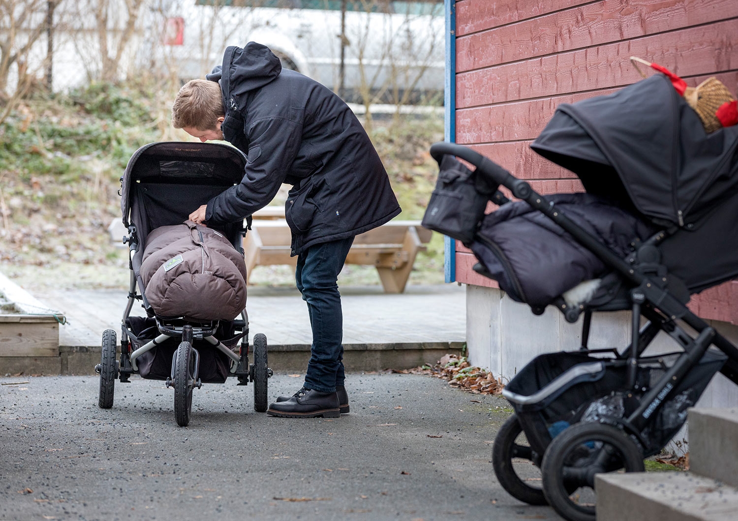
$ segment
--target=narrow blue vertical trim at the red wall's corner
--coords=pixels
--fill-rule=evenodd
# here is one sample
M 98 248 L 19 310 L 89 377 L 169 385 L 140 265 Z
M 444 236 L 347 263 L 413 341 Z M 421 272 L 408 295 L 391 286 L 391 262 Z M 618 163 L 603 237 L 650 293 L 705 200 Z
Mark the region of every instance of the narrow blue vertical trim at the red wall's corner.
M 456 0 L 444 0 L 446 12 L 446 78 L 444 81 L 444 138 L 456 142 Z M 456 241 L 444 238 L 446 282 L 456 280 Z

